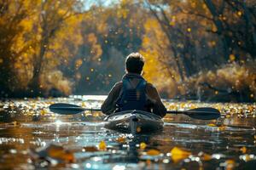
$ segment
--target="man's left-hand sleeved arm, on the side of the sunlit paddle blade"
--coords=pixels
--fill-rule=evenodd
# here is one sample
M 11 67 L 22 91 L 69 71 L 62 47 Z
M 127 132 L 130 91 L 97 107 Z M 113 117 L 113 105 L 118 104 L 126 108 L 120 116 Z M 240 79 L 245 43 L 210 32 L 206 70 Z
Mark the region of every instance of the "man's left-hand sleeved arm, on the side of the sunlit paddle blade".
M 108 98 L 102 104 L 102 113 L 105 115 L 110 115 L 116 109 L 116 100 L 119 97 L 120 90 L 122 88 L 122 82 L 117 82 L 114 84 L 113 88 L 108 93 Z

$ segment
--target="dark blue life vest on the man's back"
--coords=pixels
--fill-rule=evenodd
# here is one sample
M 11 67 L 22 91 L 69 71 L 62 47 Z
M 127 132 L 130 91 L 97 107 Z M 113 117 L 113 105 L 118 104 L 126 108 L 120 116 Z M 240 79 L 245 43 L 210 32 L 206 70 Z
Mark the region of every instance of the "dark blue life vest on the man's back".
M 136 87 L 132 86 L 131 78 L 138 78 Z M 118 111 L 147 111 L 146 109 L 146 84 L 143 77 L 124 77 L 122 94 L 117 100 Z

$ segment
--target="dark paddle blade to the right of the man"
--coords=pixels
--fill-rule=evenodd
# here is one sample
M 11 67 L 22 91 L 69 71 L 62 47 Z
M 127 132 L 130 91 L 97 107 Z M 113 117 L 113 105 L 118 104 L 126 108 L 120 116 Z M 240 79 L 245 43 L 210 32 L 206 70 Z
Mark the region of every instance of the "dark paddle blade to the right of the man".
M 218 119 L 220 112 L 212 107 L 196 108 L 189 111 L 184 111 L 184 114 L 195 119 L 212 120 Z

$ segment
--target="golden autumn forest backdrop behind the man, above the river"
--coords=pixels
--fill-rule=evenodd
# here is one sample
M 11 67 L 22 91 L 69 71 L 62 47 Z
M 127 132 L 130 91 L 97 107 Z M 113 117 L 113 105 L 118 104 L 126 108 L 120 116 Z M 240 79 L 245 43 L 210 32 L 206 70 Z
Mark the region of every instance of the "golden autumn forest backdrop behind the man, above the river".
M 108 94 L 139 52 L 161 97 L 255 102 L 254 0 L 0 0 L 0 97 Z

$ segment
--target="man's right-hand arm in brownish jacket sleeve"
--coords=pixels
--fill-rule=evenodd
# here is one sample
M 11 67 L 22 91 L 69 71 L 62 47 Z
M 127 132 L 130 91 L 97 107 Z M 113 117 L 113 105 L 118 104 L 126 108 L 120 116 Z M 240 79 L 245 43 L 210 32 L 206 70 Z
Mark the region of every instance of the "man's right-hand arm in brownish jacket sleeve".
M 153 112 L 161 117 L 166 116 L 166 106 L 162 103 L 157 89 L 151 83 L 147 84 L 146 92 L 148 98 L 154 103 Z

